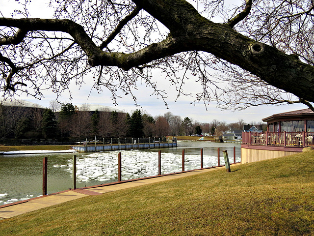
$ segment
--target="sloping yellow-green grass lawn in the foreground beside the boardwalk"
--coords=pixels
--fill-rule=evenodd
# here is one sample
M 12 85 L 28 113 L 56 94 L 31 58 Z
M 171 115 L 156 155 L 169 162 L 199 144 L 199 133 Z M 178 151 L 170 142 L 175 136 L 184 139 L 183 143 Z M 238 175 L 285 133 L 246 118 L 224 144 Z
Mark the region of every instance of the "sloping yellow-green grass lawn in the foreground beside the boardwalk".
M 314 235 L 313 151 L 231 170 L 33 211 L 0 221 L 0 235 Z

